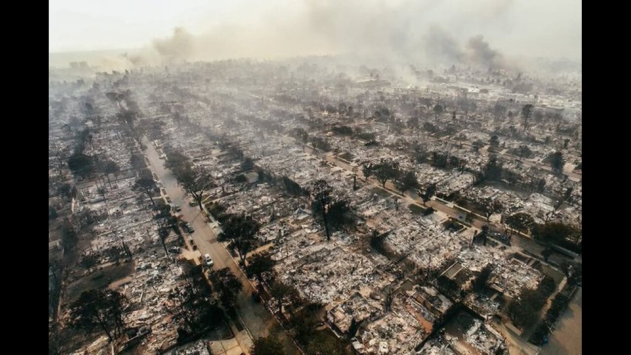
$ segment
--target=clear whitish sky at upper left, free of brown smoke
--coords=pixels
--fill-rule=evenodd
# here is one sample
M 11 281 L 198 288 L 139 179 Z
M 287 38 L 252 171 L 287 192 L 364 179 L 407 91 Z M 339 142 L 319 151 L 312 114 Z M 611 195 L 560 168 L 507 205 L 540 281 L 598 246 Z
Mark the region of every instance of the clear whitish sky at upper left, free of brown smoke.
M 278 6 L 290 1 L 273 0 Z M 222 23 L 252 21 L 260 0 L 49 0 L 49 52 L 136 48 L 174 27 L 201 34 Z M 271 2 L 270 2 L 271 3 Z M 261 13 L 262 12 L 262 13 Z

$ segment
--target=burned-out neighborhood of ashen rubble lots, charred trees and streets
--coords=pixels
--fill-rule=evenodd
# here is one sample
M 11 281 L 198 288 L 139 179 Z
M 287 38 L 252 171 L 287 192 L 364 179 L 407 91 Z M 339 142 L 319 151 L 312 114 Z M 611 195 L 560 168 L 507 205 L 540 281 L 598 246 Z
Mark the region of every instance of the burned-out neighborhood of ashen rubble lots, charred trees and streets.
M 473 34 L 49 63 L 49 354 L 581 354 L 580 57 Z

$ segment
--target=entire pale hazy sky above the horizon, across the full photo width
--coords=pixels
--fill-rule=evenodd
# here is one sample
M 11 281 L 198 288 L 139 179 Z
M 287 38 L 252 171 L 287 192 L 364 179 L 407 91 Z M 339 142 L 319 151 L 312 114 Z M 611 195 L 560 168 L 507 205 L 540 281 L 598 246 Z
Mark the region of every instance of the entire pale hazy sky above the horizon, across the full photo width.
M 175 27 L 232 56 L 407 50 L 438 26 L 504 54 L 581 59 L 581 16 L 581 0 L 49 0 L 49 52 L 149 46 Z

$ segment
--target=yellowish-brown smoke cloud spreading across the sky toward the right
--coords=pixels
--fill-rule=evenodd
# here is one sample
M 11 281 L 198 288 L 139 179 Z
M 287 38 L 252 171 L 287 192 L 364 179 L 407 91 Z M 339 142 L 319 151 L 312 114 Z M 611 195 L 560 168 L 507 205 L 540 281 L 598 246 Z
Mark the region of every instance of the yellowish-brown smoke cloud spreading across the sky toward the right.
M 581 2 L 575 0 L 274 0 L 195 34 L 183 25 L 115 61 L 353 54 L 385 63 L 511 68 L 517 57 L 581 60 Z

